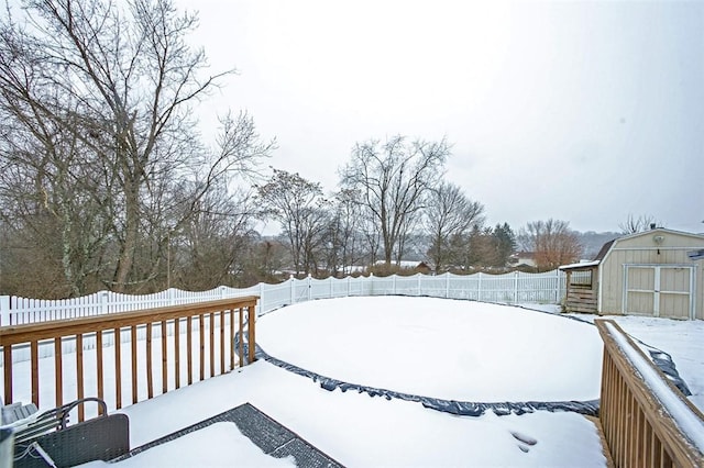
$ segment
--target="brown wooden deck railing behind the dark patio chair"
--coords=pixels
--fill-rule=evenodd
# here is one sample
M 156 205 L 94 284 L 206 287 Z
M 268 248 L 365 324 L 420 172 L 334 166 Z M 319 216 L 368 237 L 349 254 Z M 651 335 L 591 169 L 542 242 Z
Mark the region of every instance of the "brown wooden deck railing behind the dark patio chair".
M 244 363 L 244 346 L 240 339 L 239 349 L 234 349 L 234 335 L 246 336 L 249 343 L 248 361 L 254 360 L 255 308 L 257 297 L 223 299 L 186 305 L 147 309 L 135 312 L 112 313 L 106 315 L 42 322 L 28 325 L 0 327 L 0 348 L 2 349 L 4 403 L 13 402 L 14 389 L 31 386 L 31 399 L 40 405 L 40 389 L 53 387 L 54 402 L 59 406 L 68 400 L 96 395 L 106 399 L 106 388 L 114 392 L 114 406 L 122 408 L 123 394 L 131 391 L 132 403 L 140 400 L 140 389 L 146 385 L 146 398 L 154 397 L 155 380 L 158 380 L 161 367 L 161 393 L 180 388 L 196 380 L 204 380 L 218 374 L 232 370 L 235 364 Z M 246 315 L 246 317 L 245 317 Z M 246 335 L 244 335 L 246 321 Z M 64 361 L 63 343 L 75 339 L 75 365 Z M 90 343 L 88 343 L 90 342 Z M 110 343 L 113 345 L 110 346 Z M 40 359 L 40 347 L 50 347 L 52 358 Z M 13 361 L 13 350 L 29 347 L 30 381 L 18 379 L 13 370 L 28 363 Z M 53 347 L 53 352 L 51 349 Z M 156 349 L 155 349 L 156 347 Z M 46 350 L 44 354 L 47 354 Z M 87 356 L 90 358 L 87 358 Z M 124 363 L 129 355 L 129 365 Z M 235 357 L 239 358 L 235 363 Z M 48 363 L 46 363 L 48 360 Z M 113 360 L 113 363 L 112 363 Z M 161 360 L 161 366 L 160 366 Z M 40 369 L 42 361 L 42 369 Z M 156 361 L 156 364 L 155 364 Z M 95 366 L 89 369 L 88 366 Z M 74 367 L 75 366 L 75 367 Z M 129 366 L 129 368 L 128 368 Z M 22 369 L 25 369 L 23 367 Z M 42 381 L 53 367 L 52 381 Z M 70 372 L 68 371 L 70 367 Z M 156 367 L 156 369 L 155 369 Z M 140 371 L 140 368 L 143 368 Z M 208 372 L 206 372 L 208 370 Z M 18 370 L 20 371 L 20 370 Z M 26 372 L 26 370 L 23 370 Z M 65 375 L 75 371 L 74 382 L 66 382 Z M 95 371 L 95 376 L 91 375 Z M 86 388 L 87 374 L 92 388 Z M 106 385 L 106 380 L 110 385 Z M 112 385 L 114 382 L 114 390 Z M 70 395 L 68 388 L 72 389 Z M 18 389 L 20 390 L 20 389 Z M 29 389 L 21 389 L 28 394 Z M 94 394 L 88 394 L 95 391 Z M 143 392 L 142 392 L 143 393 Z M 144 398 L 142 398 L 143 400 Z M 110 404 L 110 402 L 109 402 Z M 112 405 L 111 405 L 112 406 Z M 85 417 L 82 408 L 78 419 Z

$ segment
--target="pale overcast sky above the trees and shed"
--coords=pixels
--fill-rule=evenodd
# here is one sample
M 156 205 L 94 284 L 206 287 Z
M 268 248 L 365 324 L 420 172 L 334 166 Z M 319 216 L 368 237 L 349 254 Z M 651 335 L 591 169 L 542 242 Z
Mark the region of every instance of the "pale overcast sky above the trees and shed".
M 326 191 L 355 142 L 447 136 L 446 177 L 491 224 L 704 231 L 704 2 L 178 4 L 239 70 L 207 113 L 246 109 L 270 164 Z

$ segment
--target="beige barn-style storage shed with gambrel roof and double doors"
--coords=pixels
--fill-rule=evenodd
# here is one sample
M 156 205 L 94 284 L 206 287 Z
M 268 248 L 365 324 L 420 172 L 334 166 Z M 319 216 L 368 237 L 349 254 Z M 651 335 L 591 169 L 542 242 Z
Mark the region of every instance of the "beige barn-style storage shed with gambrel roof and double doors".
M 654 227 L 563 265 L 565 310 L 704 320 L 704 235 Z

